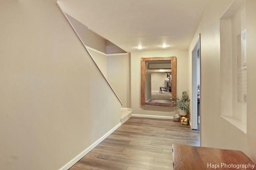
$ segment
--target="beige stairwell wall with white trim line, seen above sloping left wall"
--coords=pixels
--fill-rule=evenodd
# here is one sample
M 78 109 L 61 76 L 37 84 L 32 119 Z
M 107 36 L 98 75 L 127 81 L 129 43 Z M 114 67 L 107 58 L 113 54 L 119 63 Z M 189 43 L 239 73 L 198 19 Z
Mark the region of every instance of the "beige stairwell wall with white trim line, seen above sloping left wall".
M 80 37 L 82 43 L 86 45 L 86 48 L 90 52 L 91 57 L 95 61 L 96 65 L 109 82 L 118 98 L 122 101 L 122 107 L 131 108 L 130 102 L 130 69 L 129 69 L 129 55 L 122 49 L 109 50 L 109 46 L 115 46 L 97 35 L 86 25 L 80 21 L 66 14 L 68 21 Z M 113 49 L 113 47 L 112 47 Z M 110 52 L 113 52 L 110 54 Z

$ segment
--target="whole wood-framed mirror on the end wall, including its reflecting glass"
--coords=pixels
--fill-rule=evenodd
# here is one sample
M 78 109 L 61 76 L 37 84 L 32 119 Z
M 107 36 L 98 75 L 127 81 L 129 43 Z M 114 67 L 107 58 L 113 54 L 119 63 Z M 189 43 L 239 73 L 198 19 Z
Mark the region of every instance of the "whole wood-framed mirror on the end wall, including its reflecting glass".
M 141 58 L 141 105 L 173 106 L 176 57 Z

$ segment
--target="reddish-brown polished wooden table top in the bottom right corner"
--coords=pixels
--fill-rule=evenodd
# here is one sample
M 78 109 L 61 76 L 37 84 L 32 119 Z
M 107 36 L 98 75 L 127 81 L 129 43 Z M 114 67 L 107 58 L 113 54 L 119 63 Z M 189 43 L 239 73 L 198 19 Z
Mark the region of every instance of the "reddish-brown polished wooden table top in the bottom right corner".
M 172 145 L 174 170 L 251 170 L 256 166 L 239 150 Z

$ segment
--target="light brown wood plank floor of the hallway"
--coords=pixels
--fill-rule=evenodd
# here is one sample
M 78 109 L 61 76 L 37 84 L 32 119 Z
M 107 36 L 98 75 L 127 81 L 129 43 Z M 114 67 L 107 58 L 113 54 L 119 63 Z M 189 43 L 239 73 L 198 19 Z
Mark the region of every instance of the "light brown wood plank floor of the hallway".
M 199 146 L 199 137 L 170 119 L 131 117 L 69 170 L 172 170 L 172 144 Z

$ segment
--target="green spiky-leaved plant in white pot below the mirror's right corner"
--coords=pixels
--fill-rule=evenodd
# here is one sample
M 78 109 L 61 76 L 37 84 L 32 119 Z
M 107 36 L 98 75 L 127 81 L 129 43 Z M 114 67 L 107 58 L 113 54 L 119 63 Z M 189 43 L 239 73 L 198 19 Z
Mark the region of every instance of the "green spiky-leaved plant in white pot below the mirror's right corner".
M 172 98 L 172 103 L 174 103 L 174 107 L 176 107 L 180 111 L 180 115 L 185 116 L 187 115 L 187 112 L 189 112 L 189 97 L 188 97 L 188 91 L 182 92 L 182 98 Z

